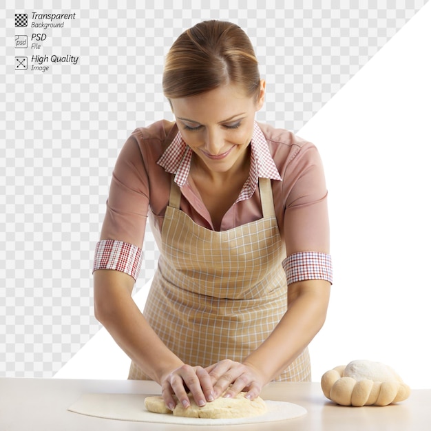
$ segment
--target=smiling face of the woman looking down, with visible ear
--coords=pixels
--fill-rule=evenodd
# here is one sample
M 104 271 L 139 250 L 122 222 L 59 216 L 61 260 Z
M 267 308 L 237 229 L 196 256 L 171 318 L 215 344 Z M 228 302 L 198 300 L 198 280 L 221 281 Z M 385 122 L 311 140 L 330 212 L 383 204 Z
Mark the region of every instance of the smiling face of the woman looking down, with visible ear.
M 198 164 L 223 173 L 242 165 L 247 154 L 255 113 L 264 103 L 265 82 L 260 94 L 244 94 L 236 84 L 224 85 L 197 96 L 172 98 L 172 111 L 182 138 L 198 156 Z

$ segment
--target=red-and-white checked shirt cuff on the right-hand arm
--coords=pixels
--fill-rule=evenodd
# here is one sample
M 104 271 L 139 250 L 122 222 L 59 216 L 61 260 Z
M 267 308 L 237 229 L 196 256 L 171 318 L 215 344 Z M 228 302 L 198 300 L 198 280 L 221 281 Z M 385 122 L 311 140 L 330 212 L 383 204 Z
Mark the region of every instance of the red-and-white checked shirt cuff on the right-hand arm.
M 304 280 L 326 280 L 333 283 L 333 265 L 330 255 L 317 251 L 302 251 L 286 257 L 282 262 L 287 284 Z

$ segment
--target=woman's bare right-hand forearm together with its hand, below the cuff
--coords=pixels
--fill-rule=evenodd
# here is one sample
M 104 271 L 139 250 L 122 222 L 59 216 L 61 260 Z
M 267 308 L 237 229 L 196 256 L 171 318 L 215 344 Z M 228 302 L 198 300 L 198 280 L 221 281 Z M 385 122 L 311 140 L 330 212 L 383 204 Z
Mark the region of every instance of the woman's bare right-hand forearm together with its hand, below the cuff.
M 306 280 L 288 286 L 288 311 L 271 335 L 242 364 L 220 361 L 207 368 L 213 381 L 215 397 L 235 397 L 246 390 L 254 399 L 262 387 L 280 375 L 308 346 L 326 319 L 330 283 Z

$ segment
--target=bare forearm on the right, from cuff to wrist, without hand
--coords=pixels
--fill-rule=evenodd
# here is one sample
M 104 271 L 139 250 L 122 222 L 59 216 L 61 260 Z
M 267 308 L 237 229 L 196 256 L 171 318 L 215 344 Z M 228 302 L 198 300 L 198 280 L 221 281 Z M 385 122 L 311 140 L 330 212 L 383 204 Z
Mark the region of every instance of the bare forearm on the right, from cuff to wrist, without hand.
M 302 353 L 326 319 L 328 282 L 307 280 L 289 289 L 288 311 L 264 343 L 244 360 L 244 364 L 264 375 L 265 383 L 280 375 Z

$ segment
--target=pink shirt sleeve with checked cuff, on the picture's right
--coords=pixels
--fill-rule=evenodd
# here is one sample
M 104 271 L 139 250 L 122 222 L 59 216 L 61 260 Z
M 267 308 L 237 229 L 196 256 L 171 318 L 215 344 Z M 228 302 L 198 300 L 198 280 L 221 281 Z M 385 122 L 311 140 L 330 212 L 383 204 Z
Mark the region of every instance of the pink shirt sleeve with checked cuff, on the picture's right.
M 316 147 L 303 143 L 283 178 L 284 240 L 282 262 L 288 284 L 322 279 L 333 282 L 329 255 L 328 191 Z

